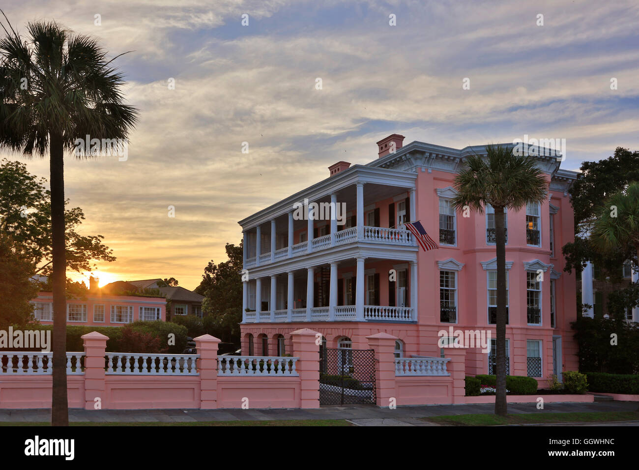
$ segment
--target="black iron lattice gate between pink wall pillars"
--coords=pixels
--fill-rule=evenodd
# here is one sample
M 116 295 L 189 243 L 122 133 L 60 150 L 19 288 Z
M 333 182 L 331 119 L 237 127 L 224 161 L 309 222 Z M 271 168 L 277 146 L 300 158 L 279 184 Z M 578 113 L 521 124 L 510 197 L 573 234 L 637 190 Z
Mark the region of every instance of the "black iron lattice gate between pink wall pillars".
M 373 349 L 327 349 L 319 356 L 320 405 L 374 405 Z

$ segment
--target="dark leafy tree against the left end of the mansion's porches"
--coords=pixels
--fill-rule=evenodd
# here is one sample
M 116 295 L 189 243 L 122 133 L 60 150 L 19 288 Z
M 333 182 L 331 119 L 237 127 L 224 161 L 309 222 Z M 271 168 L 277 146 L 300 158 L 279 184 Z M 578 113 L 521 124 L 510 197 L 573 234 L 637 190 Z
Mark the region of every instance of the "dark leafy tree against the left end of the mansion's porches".
M 238 246 L 226 244 L 227 262 L 215 264 L 210 261 L 202 281 L 195 292 L 204 295 L 202 311 L 213 317 L 213 325 L 223 341 L 240 340 L 242 322 L 242 252 L 243 242 Z

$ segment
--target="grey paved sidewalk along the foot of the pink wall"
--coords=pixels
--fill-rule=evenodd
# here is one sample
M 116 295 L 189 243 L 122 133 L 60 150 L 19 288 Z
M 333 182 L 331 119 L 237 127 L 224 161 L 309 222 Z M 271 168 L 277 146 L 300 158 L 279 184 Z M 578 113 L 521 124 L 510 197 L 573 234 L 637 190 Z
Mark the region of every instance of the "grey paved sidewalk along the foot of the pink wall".
M 537 410 L 535 403 L 511 403 L 509 413 L 637 411 L 636 402 L 547 403 Z M 450 414 L 491 414 L 493 403 L 481 405 L 431 405 L 398 407 L 391 410 L 369 405 L 322 407 L 320 409 L 148 409 L 148 410 L 84 410 L 69 409 L 69 421 L 153 422 L 153 421 L 237 421 L 278 419 L 348 419 L 357 425 L 432 426 L 418 418 Z M 47 422 L 50 409 L 0 409 L 0 422 Z

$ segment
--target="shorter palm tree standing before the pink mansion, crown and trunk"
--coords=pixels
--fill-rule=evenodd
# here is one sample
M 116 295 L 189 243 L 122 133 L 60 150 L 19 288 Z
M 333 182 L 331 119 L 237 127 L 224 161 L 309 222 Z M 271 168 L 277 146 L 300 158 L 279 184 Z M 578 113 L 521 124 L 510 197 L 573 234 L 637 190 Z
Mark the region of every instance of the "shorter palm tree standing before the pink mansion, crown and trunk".
M 512 154 L 512 147 L 486 146 L 486 158 L 471 155 L 455 177 L 457 210 L 468 206 L 483 213 L 486 205 L 495 209 L 495 247 L 497 249 L 497 393 L 495 414 L 505 416 L 506 405 L 506 242 L 504 209 L 517 211 L 528 203 L 546 197 L 544 172 L 535 161 Z

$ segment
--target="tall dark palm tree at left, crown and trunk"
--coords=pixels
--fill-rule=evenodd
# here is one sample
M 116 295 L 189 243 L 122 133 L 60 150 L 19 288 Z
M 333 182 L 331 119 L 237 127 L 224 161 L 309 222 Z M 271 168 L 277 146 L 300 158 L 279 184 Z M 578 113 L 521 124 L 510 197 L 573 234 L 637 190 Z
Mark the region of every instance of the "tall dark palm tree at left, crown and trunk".
M 1 10 L 0 10 L 1 12 Z M 4 12 L 2 12 L 4 15 Z M 0 39 L 0 146 L 25 156 L 49 150 L 53 291 L 51 423 L 68 425 L 66 396 L 65 151 L 76 139 L 126 139 L 137 109 L 123 104 L 123 75 L 89 36 L 56 22 L 8 22 Z M 118 56 L 119 57 L 119 56 Z M 78 153 L 76 152 L 77 156 Z

